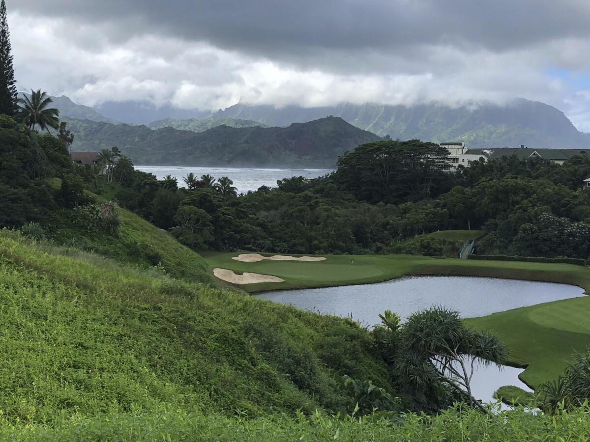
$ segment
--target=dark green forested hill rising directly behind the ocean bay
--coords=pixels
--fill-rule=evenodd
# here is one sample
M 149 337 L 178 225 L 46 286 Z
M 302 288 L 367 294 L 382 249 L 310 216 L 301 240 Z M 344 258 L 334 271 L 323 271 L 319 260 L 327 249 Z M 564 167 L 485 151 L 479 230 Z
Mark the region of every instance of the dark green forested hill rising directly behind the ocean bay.
M 289 127 L 218 126 L 201 133 L 165 127 L 67 119 L 75 134 L 73 150 L 117 146 L 135 164 L 331 168 L 338 156 L 380 138 L 324 117 Z

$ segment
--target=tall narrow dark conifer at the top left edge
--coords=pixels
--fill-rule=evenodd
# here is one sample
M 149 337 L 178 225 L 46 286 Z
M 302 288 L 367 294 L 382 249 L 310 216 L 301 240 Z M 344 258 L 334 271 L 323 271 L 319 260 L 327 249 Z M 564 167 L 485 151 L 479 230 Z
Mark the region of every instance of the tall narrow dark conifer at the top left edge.
M 10 32 L 6 18 L 6 2 L 0 2 L 0 114 L 14 115 L 17 112 L 17 85 L 14 80 Z

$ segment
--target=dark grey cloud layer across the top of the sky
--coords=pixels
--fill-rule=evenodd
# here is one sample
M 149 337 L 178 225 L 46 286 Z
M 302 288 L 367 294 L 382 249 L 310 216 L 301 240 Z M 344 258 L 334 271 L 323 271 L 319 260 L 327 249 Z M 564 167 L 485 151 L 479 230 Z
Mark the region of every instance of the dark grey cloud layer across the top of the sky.
M 590 2 L 555 0 L 9 0 L 9 9 L 109 26 L 120 41 L 163 34 L 299 61 L 324 51 L 408 52 L 422 45 L 517 50 L 588 38 Z

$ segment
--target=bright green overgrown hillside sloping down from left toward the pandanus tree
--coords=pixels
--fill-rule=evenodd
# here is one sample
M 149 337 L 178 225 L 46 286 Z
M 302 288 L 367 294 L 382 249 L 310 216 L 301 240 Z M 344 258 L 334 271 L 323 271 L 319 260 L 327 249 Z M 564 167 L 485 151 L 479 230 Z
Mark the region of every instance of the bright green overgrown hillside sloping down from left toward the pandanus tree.
M 368 333 L 0 231 L 2 420 L 160 407 L 250 417 L 340 408 L 349 374 L 391 388 Z

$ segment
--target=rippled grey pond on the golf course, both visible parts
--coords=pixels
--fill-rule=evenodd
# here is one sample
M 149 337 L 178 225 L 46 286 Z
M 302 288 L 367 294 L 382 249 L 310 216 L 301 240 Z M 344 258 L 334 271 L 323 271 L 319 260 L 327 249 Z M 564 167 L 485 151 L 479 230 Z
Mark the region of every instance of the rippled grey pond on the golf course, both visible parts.
M 419 276 L 392 281 L 262 293 L 258 298 L 290 304 L 322 314 L 350 316 L 362 325 L 379 323 L 379 314 L 389 309 L 402 321 L 410 314 L 432 305 L 460 312 L 463 318 L 485 316 L 513 308 L 585 296 L 584 290 L 567 284 L 518 281 L 516 279 L 463 276 Z M 520 368 L 478 367 L 473 376 L 474 396 L 485 402 L 502 385 L 516 385 L 532 391 L 518 375 Z

